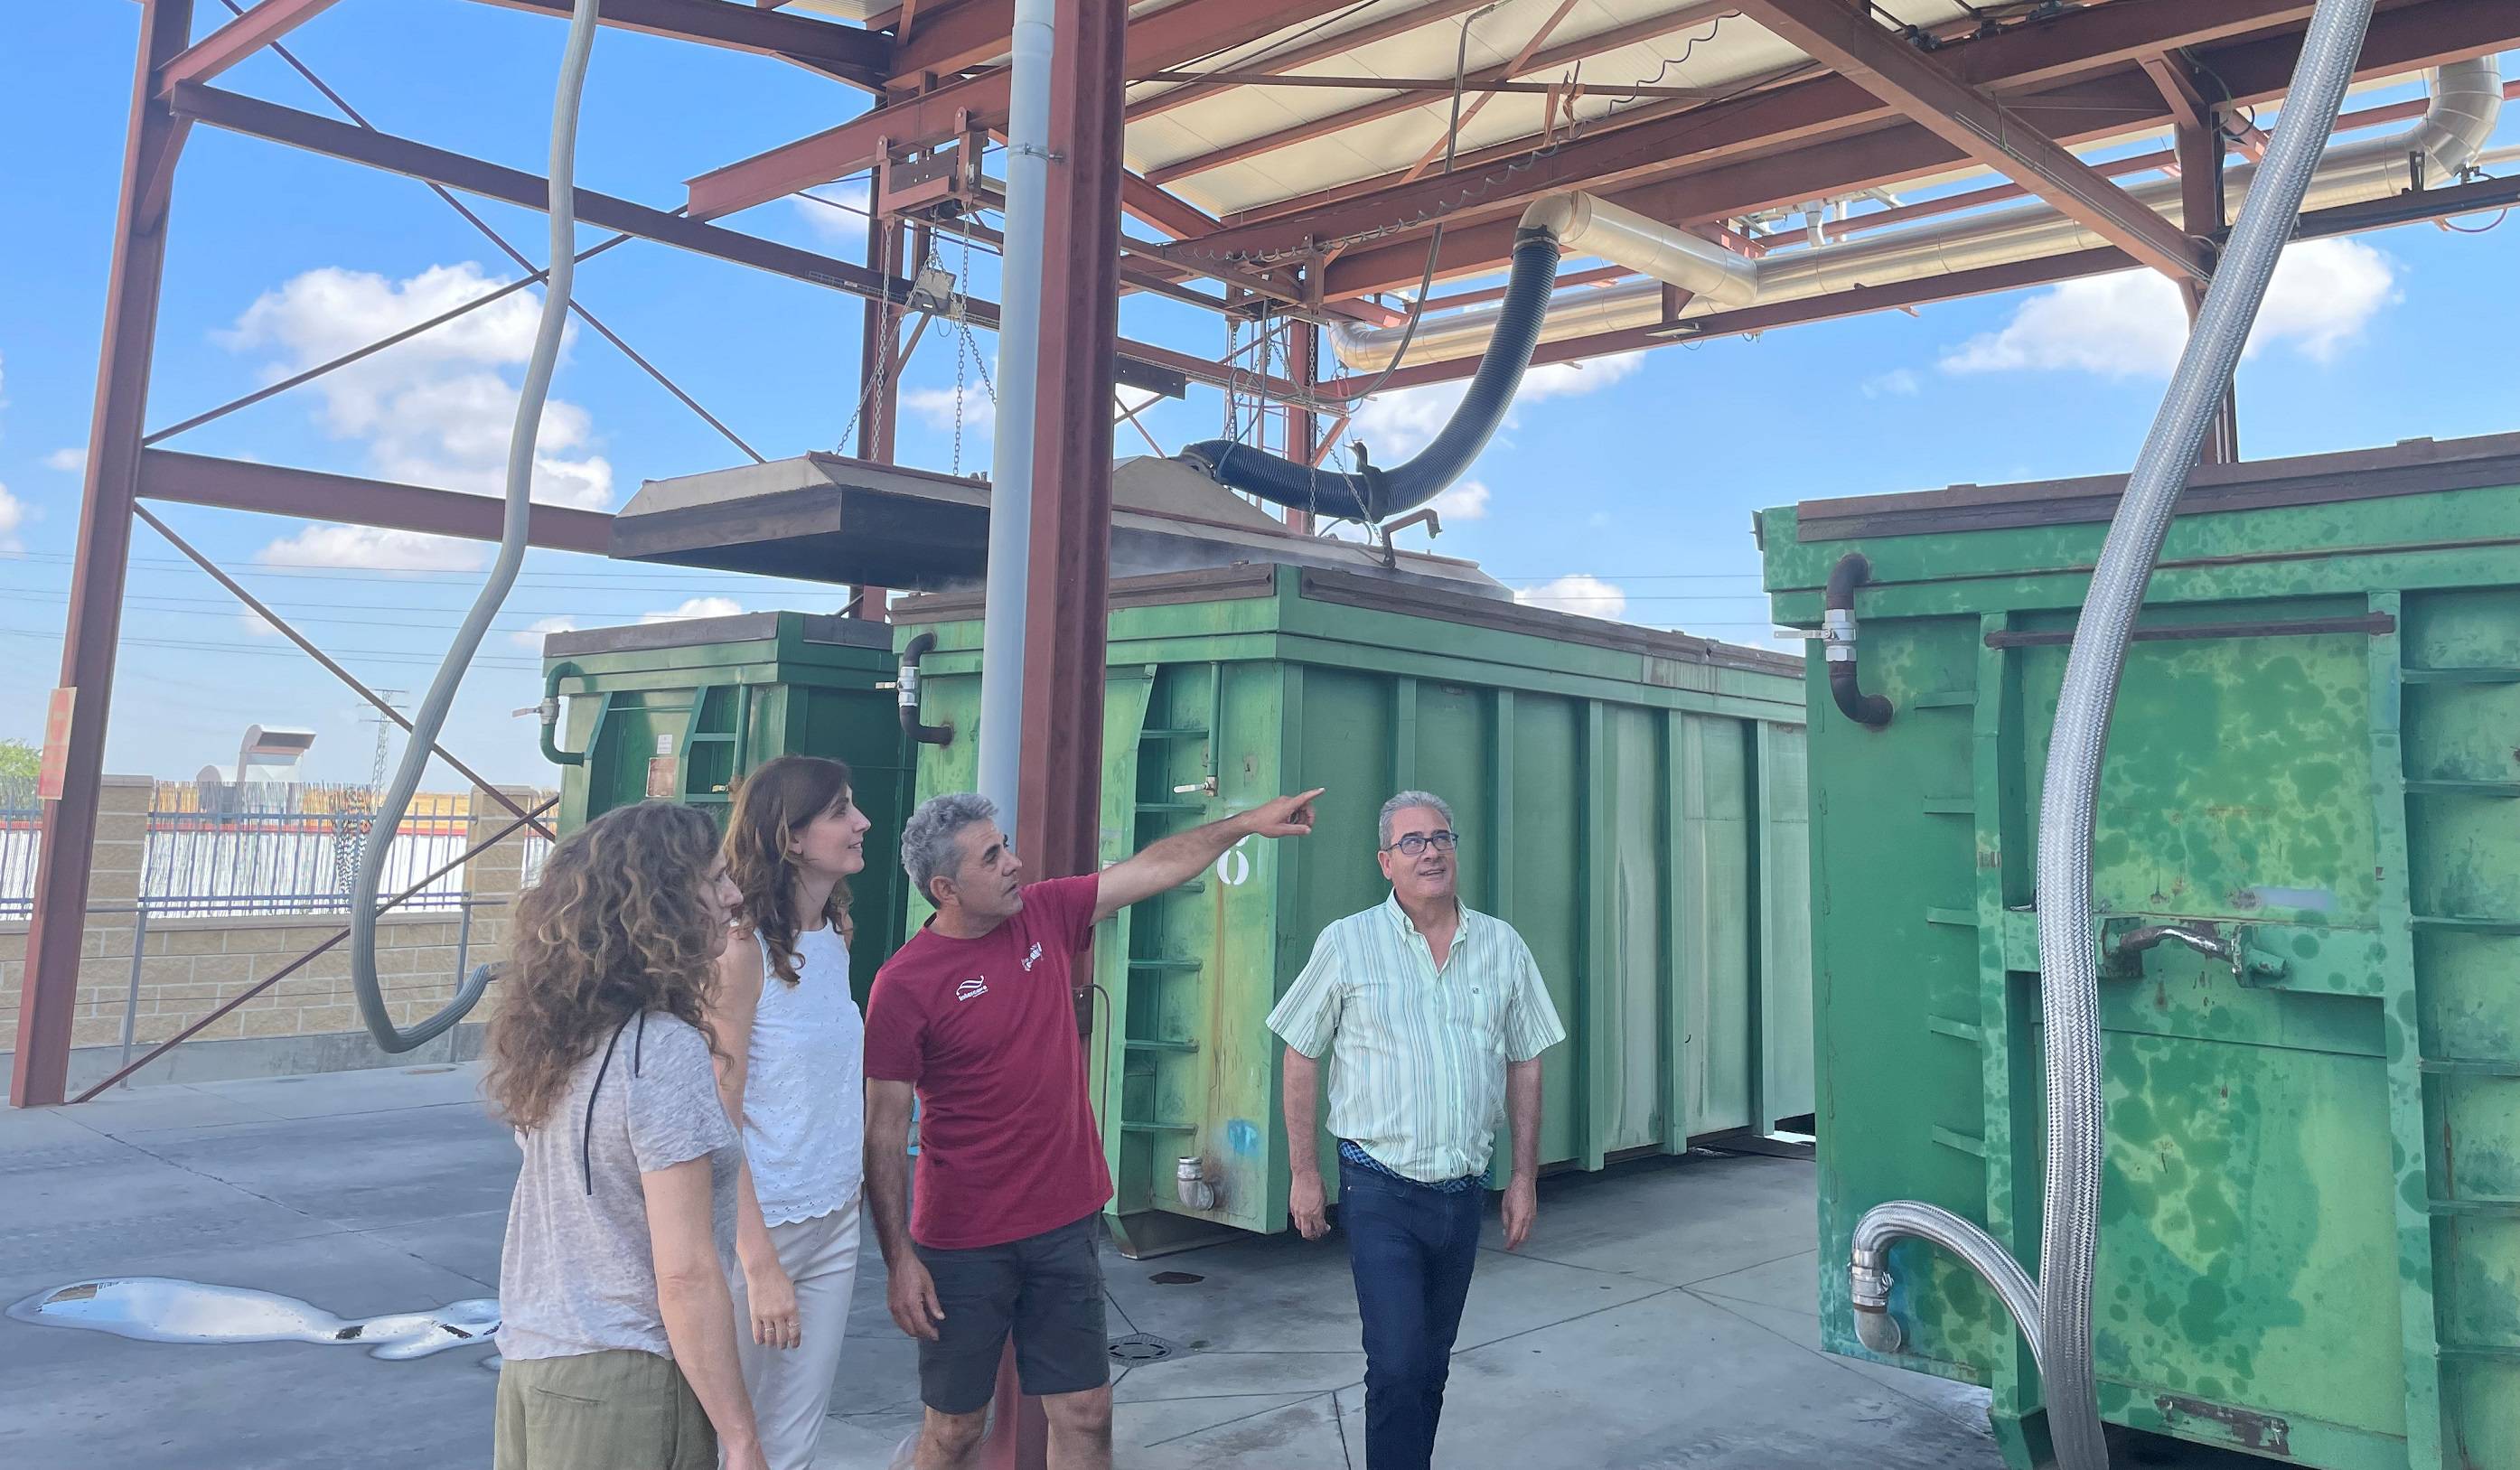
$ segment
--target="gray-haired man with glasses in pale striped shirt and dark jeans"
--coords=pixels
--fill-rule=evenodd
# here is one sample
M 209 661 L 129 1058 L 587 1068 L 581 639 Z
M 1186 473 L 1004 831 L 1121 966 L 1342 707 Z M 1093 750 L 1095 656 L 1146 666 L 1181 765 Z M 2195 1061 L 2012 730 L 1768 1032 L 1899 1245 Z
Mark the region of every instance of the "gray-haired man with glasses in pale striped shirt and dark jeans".
M 1313 1099 L 1331 1056 L 1338 1215 L 1366 1324 L 1368 1470 L 1426 1470 L 1434 1457 L 1497 1125 L 1515 1127 L 1515 1251 L 1540 1210 L 1540 1054 L 1565 1041 L 1522 935 L 1462 905 L 1457 847 L 1441 797 L 1383 802 L 1391 898 L 1320 930 L 1268 1019 L 1285 1039 L 1288 1203 L 1305 1241 L 1328 1230 Z

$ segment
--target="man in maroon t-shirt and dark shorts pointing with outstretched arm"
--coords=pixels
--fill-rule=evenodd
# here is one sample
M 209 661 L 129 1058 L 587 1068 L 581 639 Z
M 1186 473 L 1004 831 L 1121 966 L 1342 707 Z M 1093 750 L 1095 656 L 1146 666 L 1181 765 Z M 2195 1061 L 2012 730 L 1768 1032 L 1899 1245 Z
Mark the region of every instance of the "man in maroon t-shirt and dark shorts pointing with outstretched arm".
M 1051 1425 L 1051 1467 L 1109 1470 L 1096 1215 L 1111 1175 L 1068 973 L 1104 918 L 1189 883 L 1245 837 L 1308 835 L 1318 794 L 1278 797 L 1048 883 L 1018 883 L 1023 862 L 983 797 L 935 797 L 902 827 L 902 867 L 937 910 L 867 996 L 867 1200 L 892 1321 L 920 1339 L 917 1470 L 955 1470 L 980 1442 L 1008 1334 L 1023 1392 L 1041 1397 Z

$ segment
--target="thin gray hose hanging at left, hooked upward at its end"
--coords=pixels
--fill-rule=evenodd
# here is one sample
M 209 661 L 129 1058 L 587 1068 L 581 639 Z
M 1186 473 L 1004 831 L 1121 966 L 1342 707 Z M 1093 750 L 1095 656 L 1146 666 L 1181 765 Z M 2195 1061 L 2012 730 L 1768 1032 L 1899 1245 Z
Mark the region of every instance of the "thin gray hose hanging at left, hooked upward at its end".
M 542 282 L 542 320 L 534 328 L 534 350 L 524 363 L 524 388 L 517 393 L 517 426 L 507 439 L 507 517 L 499 522 L 499 557 L 491 562 L 489 580 L 481 582 L 471 613 L 464 615 L 464 625 L 456 628 L 454 645 L 446 648 L 446 663 L 438 666 L 438 676 L 428 683 L 428 696 L 421 701 L 418 714 L 411 716 L 403 764 L 396 767 L 393 784 L 375 812 L 375 827 L 383 832 L 383 840 L 368 842 L 358 855 L 358 883 L 350 893 L 350 988 L 358 993 L 358 1016 L 368 1024 L 368 1036 L 375 1036 L 375 1044 L 386 1051 L 411 1051 L 431 1036 L 444 1034 L 489 988 L 491 971 L 481 966 L 436 1016 L 408 1031 L 396 1026 L 375 973 L 375 895 L 386 880 L 386 855 L 393 850 L 393 832 L 411 809 L 411 794 L 418 792 L 421 774 L 428 772 L 428 751 L 436 746 L 438 731 L 446 729 L 446 711 L 454 709 L 464 671 L 474 653 L 481 651 L 481 638 L 489 633 L 491 618 L 499 615 L 499 605 L 507 603 L 509 587 L 517 585 L 517 570 L 524 567 L 524 532 L 534 497 L 534 451 L 542 439 L 542 406 L 552 393 L 552 371 L 559 366 L 559 333 L 570 323 L 570 290 L 577 282 L 577 103 L 587 88 L 587 58 L 595 53 L 600 8 L 602 0 L 577 0 L 577 8 L 570 13 L 570 40 L 559 55 L 559 91 L 552 98 L 552 272 Z

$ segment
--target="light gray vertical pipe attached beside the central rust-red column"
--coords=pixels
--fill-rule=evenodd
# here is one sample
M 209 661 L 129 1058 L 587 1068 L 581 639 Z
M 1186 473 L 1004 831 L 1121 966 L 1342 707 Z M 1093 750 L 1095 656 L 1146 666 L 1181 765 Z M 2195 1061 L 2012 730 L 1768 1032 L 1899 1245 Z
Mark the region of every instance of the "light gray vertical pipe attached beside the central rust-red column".
M 1023 615 L 1033 524 L 1033 396 L 1041 383 L 1041 252 L 1051 194 L 1053 0 L 1016 0 L 1005 116 L 1005 245 L 998 303 L 998 429 L 988 461 L 988 593 L 980 610 L 980 794 L 1018 825 Z M 1109 419 L 1111 414 L 1104 414 Z

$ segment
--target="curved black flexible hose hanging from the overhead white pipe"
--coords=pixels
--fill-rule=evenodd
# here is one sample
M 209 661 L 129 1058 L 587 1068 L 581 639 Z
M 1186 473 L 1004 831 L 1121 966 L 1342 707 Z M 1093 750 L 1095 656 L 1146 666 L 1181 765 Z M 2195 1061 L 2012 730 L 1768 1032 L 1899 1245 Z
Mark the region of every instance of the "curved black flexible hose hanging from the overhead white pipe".
M 1205 469 L 1217 484 L 1260 499 L 1326 517 L 1381 522 L 1444 494 L 1469 469 L 1515 406 L 1515 388 L 1540 345 L 1540 323 L 1550 315 L 1550 290 L 1557 285 L 1557 237 L 1547 229 L 1515 234 L 1515 272 L 1497 308 L 1497 333 L 1469 378 L 1469 391 L 1452 411 L 1444 431 L 1406 464 L 1391 469 L 1361 466 L 1356 474 L 1313 469 L 1232 439 L 1205 439 L 1174 459 Z

